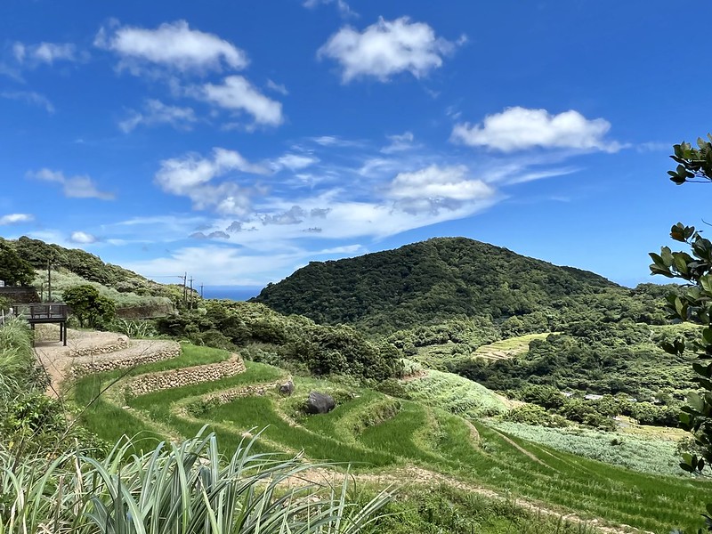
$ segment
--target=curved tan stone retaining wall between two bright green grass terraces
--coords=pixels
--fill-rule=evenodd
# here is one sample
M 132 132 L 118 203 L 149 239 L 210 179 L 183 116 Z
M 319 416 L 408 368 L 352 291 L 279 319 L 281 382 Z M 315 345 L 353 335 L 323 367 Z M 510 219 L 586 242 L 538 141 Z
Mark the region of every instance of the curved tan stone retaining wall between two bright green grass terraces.
M 228 376 L 245 372 L 245 362 L 238 354 L 233 354 L 230 360 L 211 363 L 191 368 L 172 369 L 151 375 L 134 378 L 125 384 L 126 389 L 134 395 L 182 387 L 185 385 L 214 382 Z

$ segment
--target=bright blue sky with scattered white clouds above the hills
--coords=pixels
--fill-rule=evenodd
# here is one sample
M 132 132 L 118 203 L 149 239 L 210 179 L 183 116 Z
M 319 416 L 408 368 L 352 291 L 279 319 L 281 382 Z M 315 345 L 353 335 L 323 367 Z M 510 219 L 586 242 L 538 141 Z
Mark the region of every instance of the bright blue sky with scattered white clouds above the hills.
M 0 4 L 0 235 L 263 286 L 465 236 L 627 285 L 704 185 L 712 4 Z M 662 280 L 658 280 L 662 281 Z

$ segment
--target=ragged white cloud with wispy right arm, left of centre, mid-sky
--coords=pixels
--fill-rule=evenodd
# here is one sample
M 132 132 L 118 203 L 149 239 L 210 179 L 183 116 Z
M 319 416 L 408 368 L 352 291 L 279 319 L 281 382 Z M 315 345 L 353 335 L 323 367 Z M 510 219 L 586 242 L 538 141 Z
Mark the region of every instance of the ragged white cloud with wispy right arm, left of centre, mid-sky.
M 211 183 L 214 178 L 235 172 L 268 174 L 269 169 L 249 163 L 233 150 L 216 148 L 212 158 L 187 154 L 182 158 L 161 161 L 155 180 L 167 193 L 190 198 L 194 209 L 214 209 L 220 214 L 242 215 L 250 207 L 250 190 L 235 182 Z

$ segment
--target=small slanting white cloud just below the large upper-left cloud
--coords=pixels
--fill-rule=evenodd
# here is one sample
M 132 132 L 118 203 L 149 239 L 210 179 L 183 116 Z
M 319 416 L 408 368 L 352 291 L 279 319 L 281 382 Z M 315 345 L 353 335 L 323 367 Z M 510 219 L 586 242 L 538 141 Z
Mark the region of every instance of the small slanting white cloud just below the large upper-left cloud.
M 264 96 L 245 77 L 229 76 L 223 84 L 200 85 L 188 93 L 223 109 L 246 112 L 255 124 L 279 126 L 283 121 L 282 104 Z

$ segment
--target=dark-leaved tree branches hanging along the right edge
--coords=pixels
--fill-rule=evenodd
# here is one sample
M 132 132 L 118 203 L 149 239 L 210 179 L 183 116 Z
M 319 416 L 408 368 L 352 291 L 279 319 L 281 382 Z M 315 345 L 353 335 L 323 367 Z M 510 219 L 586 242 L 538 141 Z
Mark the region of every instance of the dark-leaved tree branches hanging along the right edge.
M 687 142 L 673 147 L 675 153 L 670 158 L 678 165 L 675 171 L 668 171 L 670 180 L 677 185 L 712 182 L 712 135 L 708 134 L 708 139 L 709 142 L 698 139 L 698 149 Z M 704 326 L 701 335 L 690 344 L 699 359 L 692 368 L 700 392 L 690 393 L 689 404 L 679 416 L 680 425 L 692 433 L 701 452 L 699 457 L 684 453 L 680 466 L 690 473 L 706 474 L 712 464 L 712 241 L 703 238 L 694 226 L 683 223 L 672 227 L 670 237 L 690 247 L 692 255 L 662 247 L 660 254 L 651 253 L 651 272 L 685 280 L 682 294 L 667 295 L 667 312 L 672 319 L 693 320 Z M 676 355 L 682 355 L 686 345 L 682 338 L 660 344 L 666 352 Z M 707 505 L 707 514 L 702 515 L 707 530 L 712 531 L 712 503 Z

